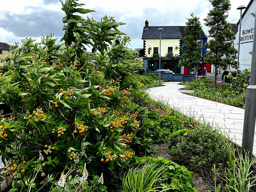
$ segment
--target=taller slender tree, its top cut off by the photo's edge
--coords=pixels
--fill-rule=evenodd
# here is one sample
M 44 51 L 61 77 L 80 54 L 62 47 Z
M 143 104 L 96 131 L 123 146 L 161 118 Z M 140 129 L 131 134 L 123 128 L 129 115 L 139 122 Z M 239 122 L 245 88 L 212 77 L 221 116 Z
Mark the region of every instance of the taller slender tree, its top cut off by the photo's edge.
M 210 27 L 209 36 L 213 37 L 204 44 L 208 48 L 206 62 L 215 67 L 215 86 L 217 68 L 226 70 L 228 65 L 236 68 L 236 53 L 234 48 L 235 34 L 231 31 L 231 25 L 226 21 L 228 10 L 230 10 L 229 0 L 209 0 L 213 8 L 207 15 L 205 26 Z

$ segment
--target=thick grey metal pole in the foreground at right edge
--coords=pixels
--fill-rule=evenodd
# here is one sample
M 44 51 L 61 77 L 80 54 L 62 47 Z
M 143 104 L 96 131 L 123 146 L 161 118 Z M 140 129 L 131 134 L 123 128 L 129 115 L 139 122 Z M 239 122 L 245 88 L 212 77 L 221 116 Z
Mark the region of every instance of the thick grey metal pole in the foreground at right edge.
M 240 20 L 241 27 L 241 20 Z M 256 28 L 256 17 L 254 21 L 254 28 Z M 256 30 L 254 30 L 254 36 L 256 36 Z M 240 38 L 239 38 L 240 40 Z M 256 118 L 256 42 L 253 39 L 252 45 L 252 64 L 251 64 L 251 76 L 250 85 L 246 89 L 246 102 L 244 111 L 244 130 L 242 141 L 242 153 L 249 152 L 250 158 L 252 158 L 253 139 L 255 130 L 255 118 Z M 239 52 L 238 52 L 239 55 Z

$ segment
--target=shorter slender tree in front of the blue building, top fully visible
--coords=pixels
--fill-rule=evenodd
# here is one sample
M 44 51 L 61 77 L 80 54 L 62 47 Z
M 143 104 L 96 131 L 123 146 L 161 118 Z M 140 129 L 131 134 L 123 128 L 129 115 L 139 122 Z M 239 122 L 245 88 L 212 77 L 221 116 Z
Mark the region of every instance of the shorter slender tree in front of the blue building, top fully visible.
M 179 61 L 179 67 L 185 66 L 189 69 L 189 79 L 190 81 L 190 72 L 194 66 L 200 64 L 199 60 L 203 56 L 201 55 L 201 45 L 197 44 L 196 40 L 201 38 L 202 27 L 199 21 L 199 17 L 191 14 L 191 18 L 186 22 L 187 27 L 184 29 L 187 34 L 183 40 L 185 44 L 182 45 L 181 51 L 181 60 Z

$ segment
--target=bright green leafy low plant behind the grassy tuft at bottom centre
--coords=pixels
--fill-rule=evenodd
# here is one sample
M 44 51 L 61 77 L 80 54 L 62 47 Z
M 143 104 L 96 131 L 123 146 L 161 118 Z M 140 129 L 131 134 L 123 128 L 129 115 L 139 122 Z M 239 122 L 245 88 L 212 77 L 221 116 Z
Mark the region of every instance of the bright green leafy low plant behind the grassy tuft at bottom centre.
M 191 173 L 186 167 L 180 166 L 163 157 L 135 157 L 136 164 L 155 164 L 155 171 L 161 169 L 161 179 L 158 181 L 161 188 L 167 192 L 196 192 Z

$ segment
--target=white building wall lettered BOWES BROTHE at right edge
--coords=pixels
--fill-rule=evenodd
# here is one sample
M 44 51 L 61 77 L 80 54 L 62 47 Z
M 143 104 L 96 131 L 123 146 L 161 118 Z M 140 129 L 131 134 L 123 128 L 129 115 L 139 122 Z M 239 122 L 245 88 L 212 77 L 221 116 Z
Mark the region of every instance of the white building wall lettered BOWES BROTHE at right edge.
M 254 0 L 246 13 L 244 14 L 244 17 L 242 18 L 242 25 L 241 25 L 241 41 L 240 41 L 240 54 L 239 54 L 239 63 L 240 67 L 239 70 L 243 71 L 246 68 L 251 67 L 252 62 L 252 55 L 249 54 L 250 51 L 252 51 L 252 41 L 253 41 L 253 33 L 254 33 L 254 20 L 255 17 L 251 14 L 255 14 L 255 7 L 256 7 L 256 1 Z M 239 16 L 240 16 L 240 10 Z M 238 13 L 237 13 L 238 14 Z M 240 17 L 238 17 L 239 19 Z M 239 27 L 240 23 L 238 25 L 238 32 L 236 33 L 236 39 L 235 39 L 235 48 L 238 49 L 238 39 L 239 39 Z

